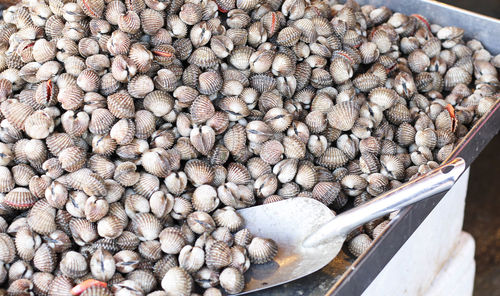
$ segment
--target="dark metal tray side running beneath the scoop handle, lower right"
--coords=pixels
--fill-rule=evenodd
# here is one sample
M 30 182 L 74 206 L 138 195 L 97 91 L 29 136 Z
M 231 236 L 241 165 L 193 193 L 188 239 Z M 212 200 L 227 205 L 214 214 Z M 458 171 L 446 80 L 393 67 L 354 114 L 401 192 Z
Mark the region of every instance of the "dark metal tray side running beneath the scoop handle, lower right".
M 461 157 L 469 167 L 499 131 L 500 100 L 476 122 L 445 161 Z M 341 275 L 340 279 L 334 282 L 326 295 L 361 295 L 445 194 L 446 192 L 436 194 L 434 197 L 401 210 L 381 235 L 373 241 L 368 251 L 356 258 L 352 265 Z M 342 264 L 345 264 L 345 262 L 342 262 Z M 337 262 L 336 266 L 339 265 Z M 332 277 L 336 278 L 337 274 L 332 274 Z

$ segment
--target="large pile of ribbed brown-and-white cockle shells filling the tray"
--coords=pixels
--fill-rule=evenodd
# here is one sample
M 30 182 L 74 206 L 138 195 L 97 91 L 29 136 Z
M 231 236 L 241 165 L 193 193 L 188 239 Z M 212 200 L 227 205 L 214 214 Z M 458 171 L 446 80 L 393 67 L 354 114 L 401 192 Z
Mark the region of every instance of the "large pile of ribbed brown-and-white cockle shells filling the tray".
M 353 1 L 8 8 L 0 282 L 9 295 L 240 292 L 277 246 L 237 209 L 359 205 L 435 168 L 496 103 L 500 56 L 463 33 Z M 387 224 L 355 231 L 349 251 Z

